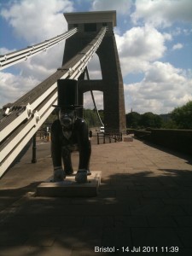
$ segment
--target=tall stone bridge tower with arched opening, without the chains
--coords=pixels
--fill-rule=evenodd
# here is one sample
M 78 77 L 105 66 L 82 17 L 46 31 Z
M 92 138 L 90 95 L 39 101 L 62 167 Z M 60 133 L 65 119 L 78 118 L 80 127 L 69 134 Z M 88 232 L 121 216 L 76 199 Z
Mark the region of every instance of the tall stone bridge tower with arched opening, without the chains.
M 102 26 L 108 26 L 102 44 L 96 51 L 102 69 L 102 80 L 79 79 L 79 104 L 83 104 L 83 94 L 90 91 L 90 88 L 102 91 L 105 131 L 124 132 L 124 85 L 113 33 L 113 27 L 116 26 L 116 11 L 67 13 L 64 16 L 68 29 L 78 27 L 78 32 L 66 40 L 63 64 L 89 44 Z

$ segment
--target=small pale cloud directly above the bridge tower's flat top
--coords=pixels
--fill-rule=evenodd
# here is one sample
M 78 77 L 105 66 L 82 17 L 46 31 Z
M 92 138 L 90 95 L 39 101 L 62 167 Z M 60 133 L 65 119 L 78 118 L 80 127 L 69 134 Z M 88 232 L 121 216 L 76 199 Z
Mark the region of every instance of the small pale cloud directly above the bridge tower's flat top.
M 116 10 L 119 14 L 125 15 L 130 12 L 131 0 L 94 0 L 91 10 Z

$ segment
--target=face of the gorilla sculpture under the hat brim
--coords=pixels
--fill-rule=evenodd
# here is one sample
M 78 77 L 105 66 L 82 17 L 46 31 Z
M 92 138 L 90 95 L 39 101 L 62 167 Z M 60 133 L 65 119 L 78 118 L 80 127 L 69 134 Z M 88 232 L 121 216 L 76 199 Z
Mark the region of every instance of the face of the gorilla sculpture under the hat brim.
M 75 120 L 75 111 L 71 109 L 60 109 L 59 119 L 61 126 L 64 129 L 70 129 L 74 124 Z

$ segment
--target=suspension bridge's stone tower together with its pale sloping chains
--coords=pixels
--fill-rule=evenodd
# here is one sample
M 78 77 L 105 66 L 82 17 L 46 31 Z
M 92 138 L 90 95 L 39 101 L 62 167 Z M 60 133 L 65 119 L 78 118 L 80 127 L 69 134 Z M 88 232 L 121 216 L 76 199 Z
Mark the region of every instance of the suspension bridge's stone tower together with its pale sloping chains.
M 62 66 L 26 95 L 3 107 L 0 177 L 54 110 L 52 106 L 57 102 L 59 79 L 79 79 L 79 103 L 82 105 L 85 91 L 103 91 L 106 129 L 125 131 L 123 80 L 113 35 L 116 12 L 71 13 L 64 16 L 68 23 L 67 32 L 0 56 L 0 69 L 3 70 L 20 61 L 27 61 L 66 39 Z M 84 80 L 85 73 L 89 77 L 86 67 L 94 54 L 99 56 L 101 62 L 102 80 Z

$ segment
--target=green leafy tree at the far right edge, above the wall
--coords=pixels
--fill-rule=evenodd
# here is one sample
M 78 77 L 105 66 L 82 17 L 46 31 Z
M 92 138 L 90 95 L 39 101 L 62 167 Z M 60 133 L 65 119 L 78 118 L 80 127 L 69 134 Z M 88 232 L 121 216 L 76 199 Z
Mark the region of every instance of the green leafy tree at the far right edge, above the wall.
M 174 108 L 171 117 L 178 129 L 192 129 L 192 101 L 183 107 Z

